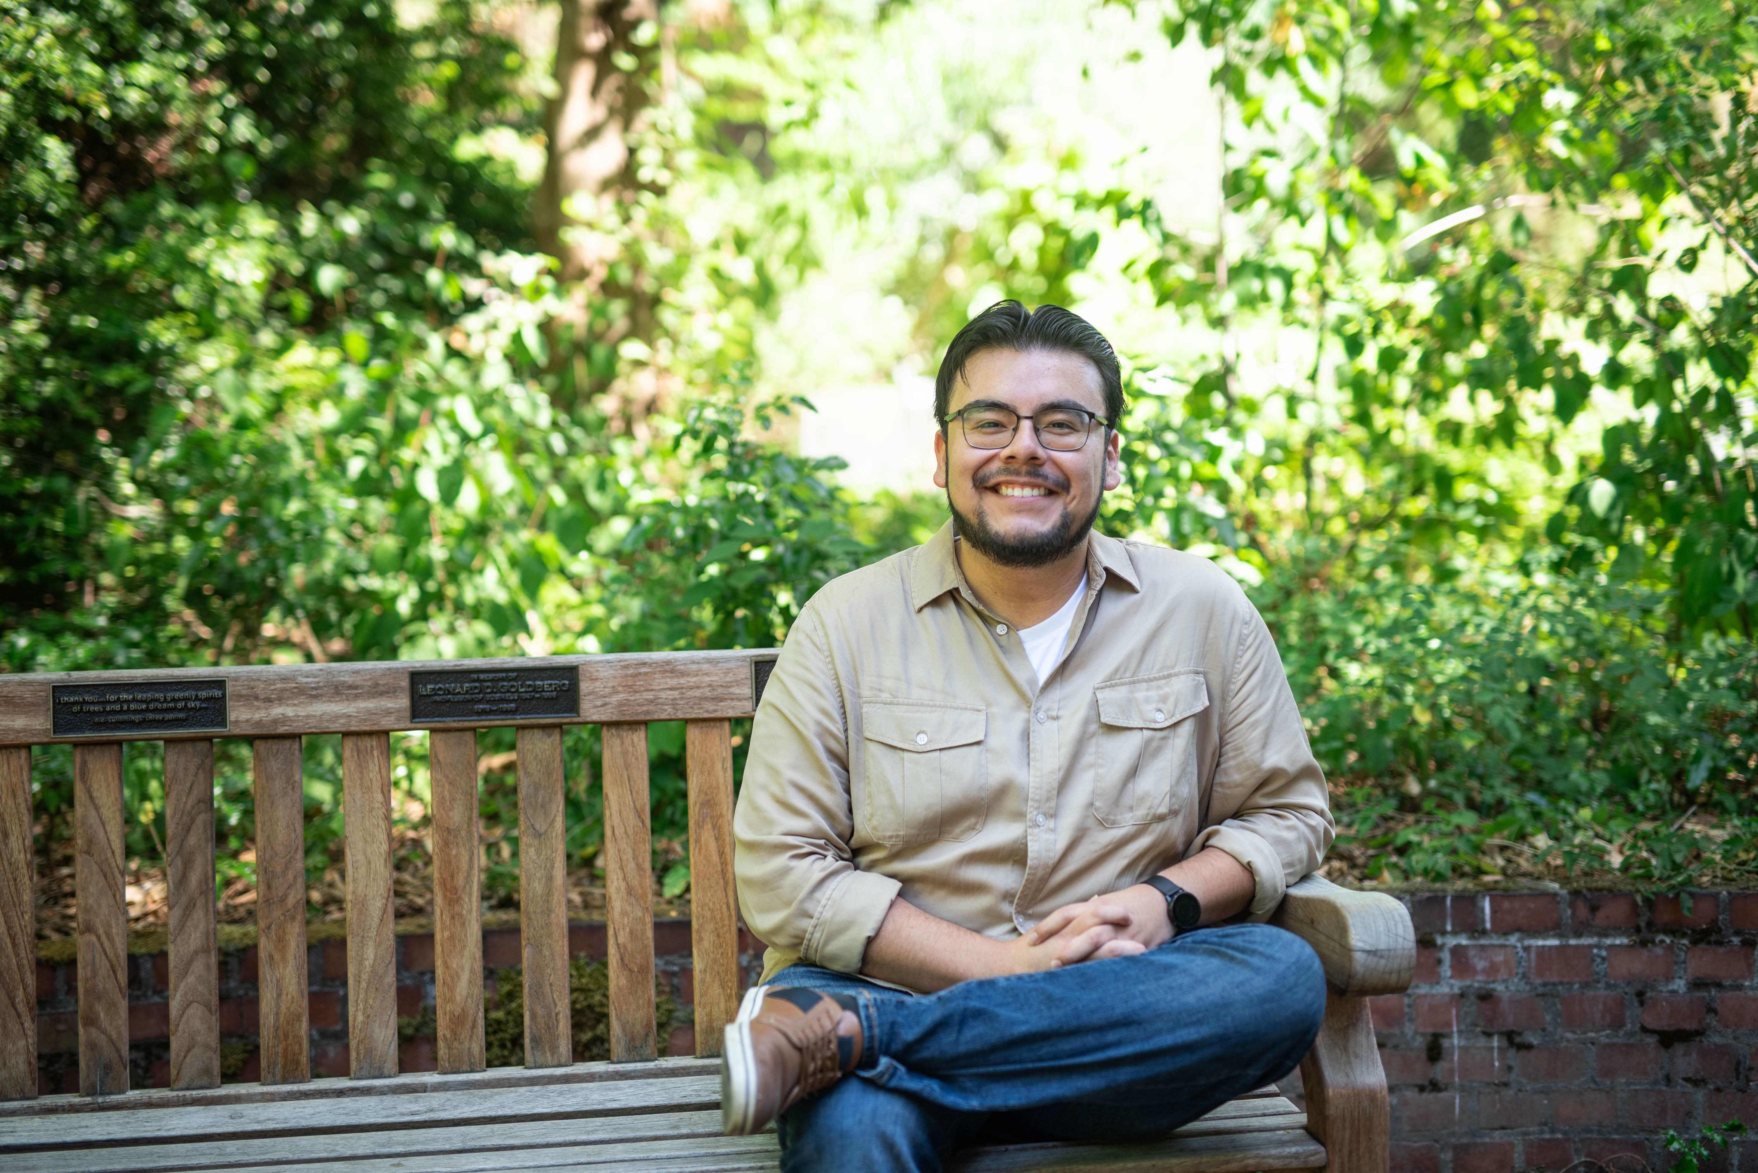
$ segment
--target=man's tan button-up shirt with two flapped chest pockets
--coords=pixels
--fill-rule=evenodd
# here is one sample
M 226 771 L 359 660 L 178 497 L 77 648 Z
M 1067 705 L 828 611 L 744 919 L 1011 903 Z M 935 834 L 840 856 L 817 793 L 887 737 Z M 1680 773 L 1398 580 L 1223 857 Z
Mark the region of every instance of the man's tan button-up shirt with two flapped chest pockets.
M 1336 832 L 1282 660 L 1215 564 L 1093 534 L 1039 685 L 948 523 L 800 613 L 763 692 L 738 810 L 745 924 L 858 973 L 897 896 L 1006 939 L 1217 846 L 1264 918 Z

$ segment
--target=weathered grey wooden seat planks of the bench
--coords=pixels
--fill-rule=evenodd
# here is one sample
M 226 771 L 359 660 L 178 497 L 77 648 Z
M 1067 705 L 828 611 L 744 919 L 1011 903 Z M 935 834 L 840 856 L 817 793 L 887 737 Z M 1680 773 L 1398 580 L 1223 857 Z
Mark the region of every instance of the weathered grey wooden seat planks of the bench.
M 12 1173 L 185 1169 L 774 1169 L 775 1134 L 721 1136 L 719 1064 L 659 1059 L 559 1071 L 496 1068 L 214 1090 L 46 1096 L 0 1112 Z M 1324 1164 L 1306 1117 L 1273 1087 L 1150 1145 L 976 1148 L 970 1173 L 1083 1168 L 1304 1169 Z

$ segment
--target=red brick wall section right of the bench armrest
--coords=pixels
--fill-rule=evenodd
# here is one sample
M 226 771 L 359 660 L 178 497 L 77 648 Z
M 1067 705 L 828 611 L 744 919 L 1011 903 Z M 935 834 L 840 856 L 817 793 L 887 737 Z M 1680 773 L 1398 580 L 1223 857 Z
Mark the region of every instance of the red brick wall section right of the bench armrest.
M 1758 1129 L 1758 892 L 1399 899 L 1415 985 L 1373 999 L 1394 1171 L 1660 1171 L 1665 1129 Z M 1758 1140 L 1707 1168 L 1758 1173 Z

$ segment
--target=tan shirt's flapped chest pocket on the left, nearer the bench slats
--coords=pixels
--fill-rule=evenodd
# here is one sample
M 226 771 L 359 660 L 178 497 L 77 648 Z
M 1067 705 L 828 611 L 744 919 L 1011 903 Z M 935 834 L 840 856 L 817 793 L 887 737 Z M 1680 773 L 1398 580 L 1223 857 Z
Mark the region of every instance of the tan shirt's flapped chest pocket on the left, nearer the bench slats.
M 963 841 L 988 818 L 981 706 L 861 699 L 867 832 L 879 843 Z

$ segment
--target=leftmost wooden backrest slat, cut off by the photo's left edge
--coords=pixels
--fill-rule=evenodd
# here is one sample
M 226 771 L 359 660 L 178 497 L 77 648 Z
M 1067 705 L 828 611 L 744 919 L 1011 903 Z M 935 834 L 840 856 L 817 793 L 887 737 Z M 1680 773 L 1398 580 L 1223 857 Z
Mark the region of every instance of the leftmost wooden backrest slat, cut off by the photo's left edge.
M 0 1099 L 37 1096 L 37 913 L 30 750 L 0 750 Z

